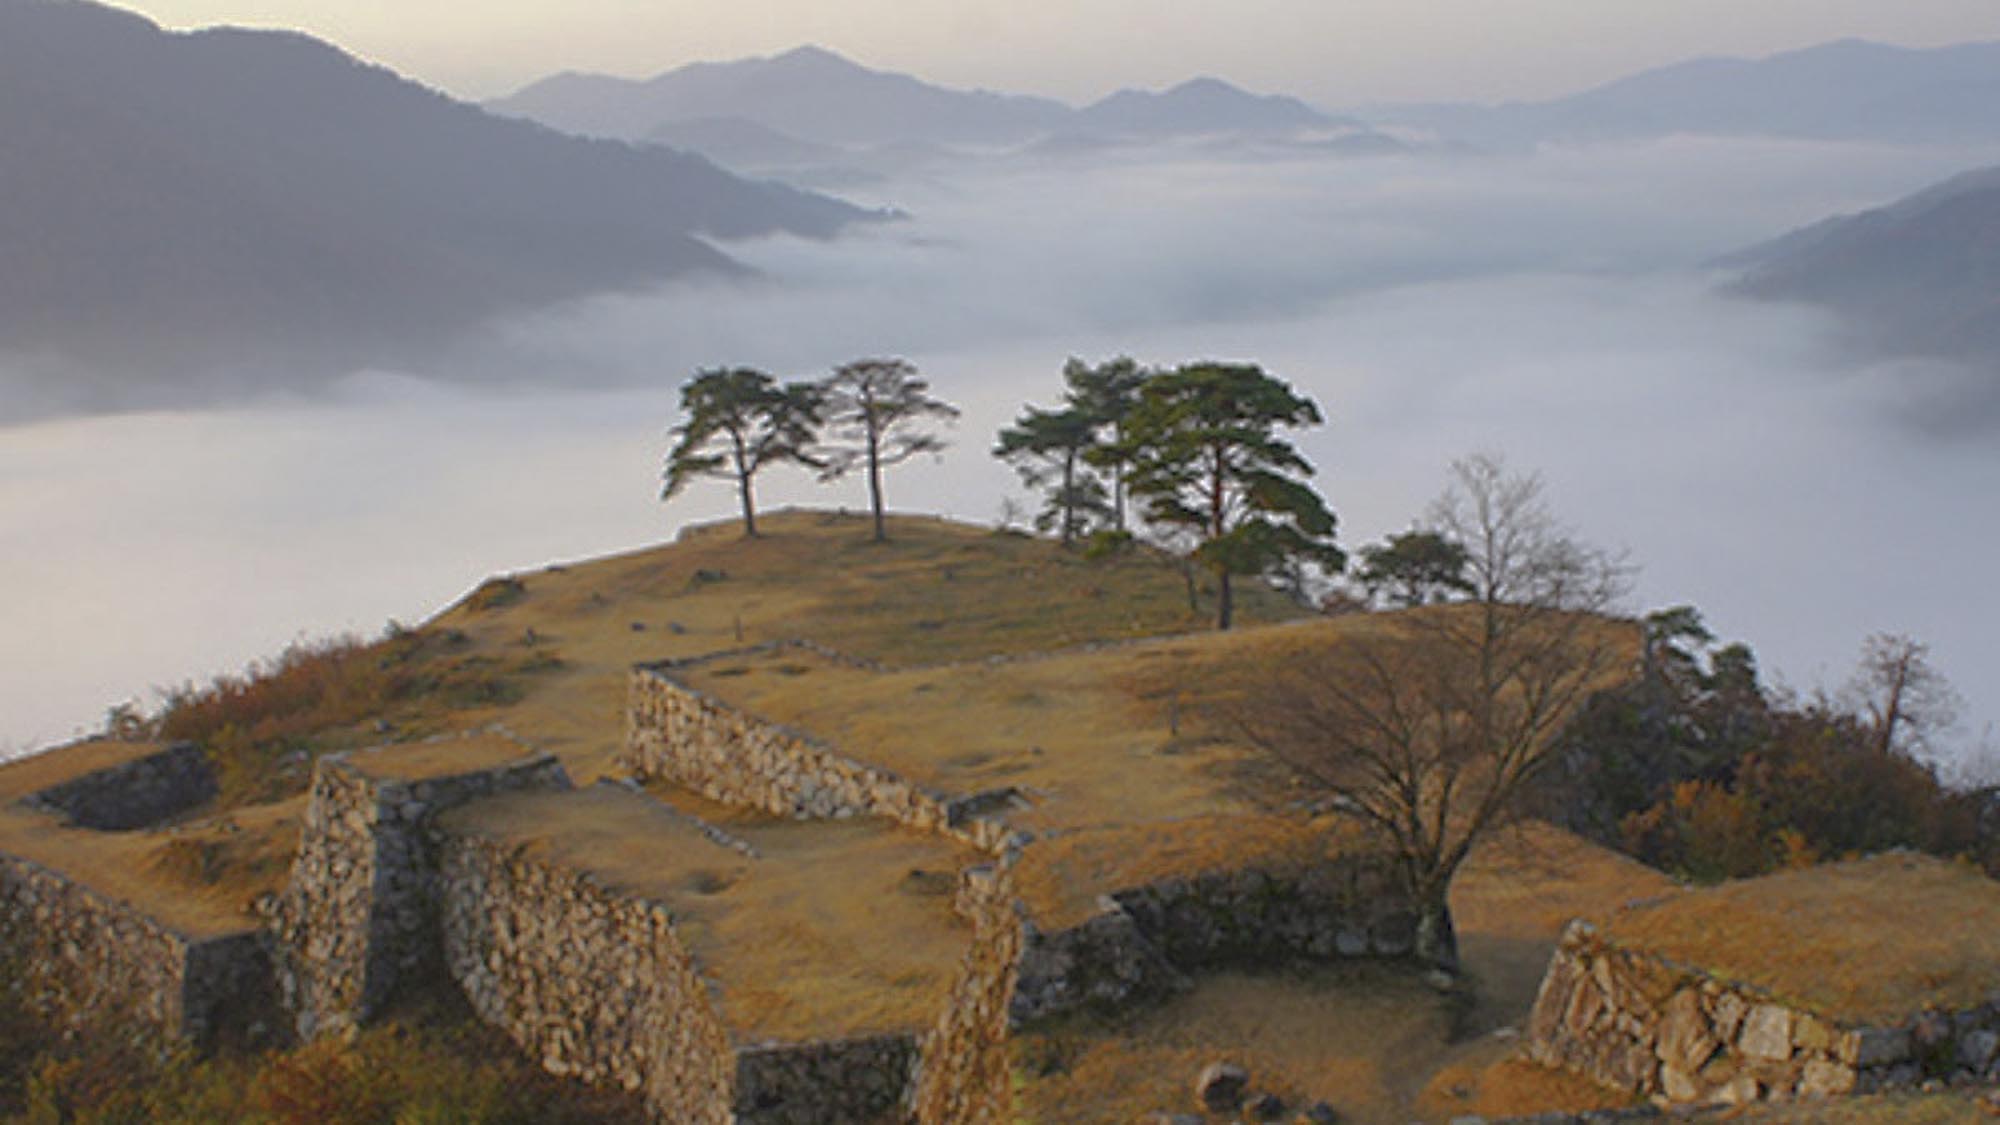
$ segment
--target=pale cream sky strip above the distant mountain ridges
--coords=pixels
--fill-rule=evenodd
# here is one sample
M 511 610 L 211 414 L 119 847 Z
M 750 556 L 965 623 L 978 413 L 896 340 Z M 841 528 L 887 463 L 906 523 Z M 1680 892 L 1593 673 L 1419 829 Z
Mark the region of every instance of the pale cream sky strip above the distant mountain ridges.
M 1322 106 L 1508 100 L 1698 54 L 2000 40 L 2000 0 L 138 0 L 298 28 L 468 98 L 814 42 L 950 86 L 1092 100 L 1214 74 Z

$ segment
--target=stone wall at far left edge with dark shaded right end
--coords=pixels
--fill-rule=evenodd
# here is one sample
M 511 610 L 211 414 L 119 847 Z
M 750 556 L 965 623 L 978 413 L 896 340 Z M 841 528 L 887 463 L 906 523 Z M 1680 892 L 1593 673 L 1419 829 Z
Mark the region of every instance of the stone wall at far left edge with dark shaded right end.
M 126 1035 L 206 1047 L 264 1039 L 276 1021 L 256 931 L 196 939 L 38 863 L 0 855 L 0 939 L 18 989 L 62 1035 Z

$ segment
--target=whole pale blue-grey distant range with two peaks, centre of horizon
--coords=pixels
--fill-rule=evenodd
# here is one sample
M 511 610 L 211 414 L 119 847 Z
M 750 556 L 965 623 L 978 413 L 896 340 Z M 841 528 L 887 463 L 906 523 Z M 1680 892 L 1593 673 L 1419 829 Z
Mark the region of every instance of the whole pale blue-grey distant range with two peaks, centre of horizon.
M 700 136 L 676 122 L 730 118 L 824 146 L 1026 144 L 1048 136 L 1186 136 L 1296 132 L 1342 122 L 1284 96 L 1256 96 L 1216 78 L 1166 92 L 1120 90 L 1082 110 L 1050 98 L 948 90 L 802 46 L 774 58 L 696 62 L 658 78 L 558 74 L 490 108 L 586 136 L 688 140 L 728 162 L 742 138 Z

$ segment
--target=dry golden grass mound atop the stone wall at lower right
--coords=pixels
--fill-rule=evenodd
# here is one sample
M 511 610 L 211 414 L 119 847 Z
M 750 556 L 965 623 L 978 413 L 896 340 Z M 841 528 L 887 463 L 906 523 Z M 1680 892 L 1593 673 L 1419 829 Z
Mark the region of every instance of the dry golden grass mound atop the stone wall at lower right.
M 2000 883 L 1908 853 L 1676 895 L 1616 915 L 1606 933 L 1836 1021 L 1962 1009 L 2000 991 Z

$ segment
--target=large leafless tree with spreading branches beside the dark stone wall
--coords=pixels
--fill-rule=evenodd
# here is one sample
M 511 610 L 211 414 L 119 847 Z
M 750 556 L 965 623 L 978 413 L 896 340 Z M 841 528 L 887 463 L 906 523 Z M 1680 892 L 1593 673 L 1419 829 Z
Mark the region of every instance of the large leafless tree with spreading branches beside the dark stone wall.
M 1632 675 L 1638 631 L 1606 617 L 1628 569 L 1550 514 L 1538 476 L 1496 456 L 1454 462 L 1430 524 L 1466 546 L 1470 603 L 1378 615 L 1244 673 L 1222 713 L 1390 849 L 1418 957 L 1456 971 L 1452 877 L 1514 815 L 1584 699 Z

